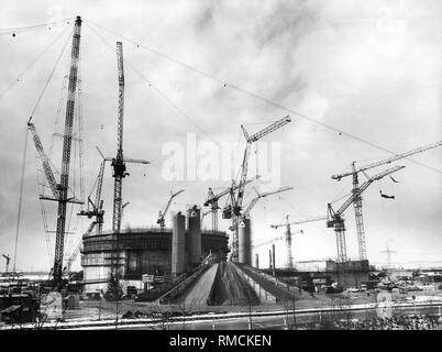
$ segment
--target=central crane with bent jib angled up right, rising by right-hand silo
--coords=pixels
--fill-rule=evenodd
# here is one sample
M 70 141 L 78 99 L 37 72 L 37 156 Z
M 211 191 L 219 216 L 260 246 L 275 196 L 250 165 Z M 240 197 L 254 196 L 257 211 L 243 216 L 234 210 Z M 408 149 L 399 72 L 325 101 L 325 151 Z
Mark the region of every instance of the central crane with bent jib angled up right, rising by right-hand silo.
M 252 143 L 257 142 L 262 138 L 266 136 L 267 134 L 280 129 L 281 127 L 286 125 L 287 123 L 291 122 L 291 119 L 289 116 L 284 117 L 283 119 L 275 121 L 274 123 L 269 124 L 268 127 L 264 128 L 263 130 L 250 135 L 247 131 L 245 130 L 244 125 L 241 125 L 241 129 L 243 131 L 244 138 L 245 138 L 245 151 L 244 151 L 244 156 L 243 156 L 243 162 L 241 165 L 241 178 L 240 178 L 240 184 L 237 187 L 237 195 L 234 196 L 233 193 L 231 194 L 231 201 L 232 201 L 232 210 L 225 209 L 223 210 L 223 213 L 225 212 L 233 212 L 233 218 L 236 218 L 233 220 L 234 222 L 237 222 L 237 218 L 241 216 L 241 210 L 242 210 L 242 202 L 244 198 L 244 189 L 245 189 L 245 179 L 247 177 L 247 169 L 248 169 L 248 156 L 251 153 L 251 147 Z M 230 215 L 229 217 L 232 217 Z M 233 231 L 233 251 L 232 251 L 232 257 L 233 261 L 237 260 L 237 229 L 234 227 Z

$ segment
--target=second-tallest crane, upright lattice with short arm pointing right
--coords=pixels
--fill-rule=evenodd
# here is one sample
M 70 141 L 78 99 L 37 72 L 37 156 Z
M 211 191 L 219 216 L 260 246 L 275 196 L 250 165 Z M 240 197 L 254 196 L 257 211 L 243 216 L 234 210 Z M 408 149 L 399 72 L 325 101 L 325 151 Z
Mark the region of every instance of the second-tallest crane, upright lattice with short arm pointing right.
M 112 231 L 120 233 L 121 231 L 121 213 L 122 213 L 122 186 L 123 178 L 129 176 L 125 163 L 150 164 L 144 160 L 125 160 L 123 157 L 123 113 L 124 113 L 124 67 L 123 67 L 123 44 L 117 42 L 117 63 L 118 63 L 118 131 L 117 131 L 117 156 L 112 158 L 113 167 L 113 217 Z

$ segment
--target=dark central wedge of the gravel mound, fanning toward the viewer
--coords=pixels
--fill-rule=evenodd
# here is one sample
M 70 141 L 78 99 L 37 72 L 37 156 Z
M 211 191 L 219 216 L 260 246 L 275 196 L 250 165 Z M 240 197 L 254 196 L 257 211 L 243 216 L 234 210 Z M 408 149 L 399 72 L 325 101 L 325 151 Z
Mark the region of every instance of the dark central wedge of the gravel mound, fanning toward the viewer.
M 248 283 L 237 273 L 234 264 L 221 262 L 210 293 L 210 306 L 256 306 L 259 299 Z

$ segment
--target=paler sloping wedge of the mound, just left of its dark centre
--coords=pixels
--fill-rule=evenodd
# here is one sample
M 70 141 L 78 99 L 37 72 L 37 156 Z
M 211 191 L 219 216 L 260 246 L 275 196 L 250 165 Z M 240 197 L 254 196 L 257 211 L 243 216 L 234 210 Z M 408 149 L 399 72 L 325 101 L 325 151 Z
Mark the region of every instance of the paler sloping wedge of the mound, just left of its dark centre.
M 212 264 L 195 280 L 187 293 L 184 294 L 183 299 L 187 306 L 207 306 L 207 300 L 217 276 L 218 265 L 218 263 Z

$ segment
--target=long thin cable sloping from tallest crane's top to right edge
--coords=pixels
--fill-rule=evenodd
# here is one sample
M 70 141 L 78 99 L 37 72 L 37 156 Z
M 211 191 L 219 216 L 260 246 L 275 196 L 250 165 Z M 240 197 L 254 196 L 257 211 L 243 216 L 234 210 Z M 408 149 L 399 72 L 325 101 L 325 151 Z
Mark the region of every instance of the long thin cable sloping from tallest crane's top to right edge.
M 294 109 L 287 108 L 287 107 L 283 106 L 283 105 L 279 103 L 279 102 L 276 102 L 276 101 L 273 101 L 273 100 L 270 100 L 270 99 L 268 99 L 268 98 L 262 97 L 262 96 L 259 96 L 259 95 L 257 95 L 257 94 L 255 94 L 255 92 L 253 92 L 253 91 L 250 91 L 250 90 L 246 90 L 246 89 L 244 89 L 244 88 L 241 88 L 241 87 L 239 87 L 239 86 L 236 86 L 236 85 L 234 85 L 234 84 L 228 82 L 226 80 L 223 80 L 223 79 L 221 79 L 221 78 L 219 78 L 219 77 L 217 77 L 217 76 L 214 76 L 214 75 L 212 75 L 212 74 L 209 74 L 209 73 L 207 73 L 207 72 L 200 70 L 200 69 L 198 69 L 198 68 L 196 68 L 196 67 L 194 67 L 194 66 L 190 66 L 189 64 L 186 64 L 186 63 L 184 63 L 184 62 L 181 62 L 181 61 L 179 61 L 179 59 L 176 59 L 176 58 L 174 58 L 174 57 L 172 57 L 172 56 L 169 56 L 169 55 L 167 55 L 167 54 L 164 54 L 164 53 L 162 53 L 162 52 L 159 52 L 159 51 L 157 51 L 157 50 L 154 50 L 154 48 L 152 48 L 152 47 L 150 47 L 150 46 L 147 46 L 147 45 L 145 45 L 145 44 L 139 43 L 139 42 L 136 42 L 136 41 L 133 41 L 133 40 L 131 40 L 131 38 L 128 38 L 126 36 L 120 35 L 120 34 L 118 34 L 118 33 L 115 33 L 115 32 L 113 32 L 113 31 L 110 31 L 110 30 L 108 30 L 108 29 L 106 29 L 106 28 L 103 28 L 103 26 L 101 26 L 101 25 L 99 25 L 99 24 L 97 24 L 97 23 L 93 23 L 93 22 L 91 22 L 91 21 L 89 21 L 89 20 L 88 20 L 88 22 L 91 23 L 91 24 L 93 24 L 93 25 L 96 25 L 96 26 L 98 26 L 98 28 L 100 28 L 100 29 L 102 29 L 103 31 L 106 31 L 106 32 L 108 32 L 108 33 L 111 33 L 111 34 L 113 34 L 113 35 L 115 35 L 115 36 L 119 36 L 119 37 L 124 38 L 125 41 L 128 41 L 128 42 L 130 42 L 130 43 L 136 45 L 136 47 L 145 48 L 146 51 L 148 51 L 148 52 L 151 52 L 151 53 L 153 53 L 153 54 L 155 54 L 155 55 L 157 55 L 157 56 L 159 56 L 159 57 L 163 57 L 163 58 L 165 58 L 165 59 L 167 59 L 167 61 L 169 61 L 169 62 L 173 62 L 173 63 L 175 63 L 175 64 L 177 64 L 177 65 L 180 65 L 180 66 L 183 66 L 183 67 L 185 67 L 185 68 L 187 68 L 187 69 L 189 69 L 189 70 L 192 70 L 192 72 L 195 72 L 195 73 L 197 73 L 197 74 L 199 74 L 199 75 L 201 75 L 201 76 L 205 76 L 205 77 L 210 78 L 210 79 L 212 79 L 212 80 L 216 80 L 216 81 L 218 81 L 218 82 L 220 82 L 220 84 L 223 84 L 223 86 L 226 87 L 226 88 L 235 89 L 235 90 L 241 91 L 241 92 L 243 92 L 243 94 L 245 94 L 245 95 L 247 95 L 247 96 L 254 97 L 254 98 L 256 98 L 256 99 L 258 99 L 258 100 L 261 100 L 261 101 L 264 101 L 264 102 L 266 102 L 266 103 L 268 103 L 268 105 L 272 105 L 272 106 L 274 106 L 274 107 L 276 107 L 276 108 L 283 109 L 283 110 L 288 111 L 288 112 L 291 112 L 291 113 L 294 113 L 294 114 L 296 114 L 296 116 L 298 116 L 298 117 L 300 117 L 300 118 L 302 118 L 302 119 L 305 119 L 305 120 L 308 120 L 308 121 L 313 122 L 313 123 L 316 123 L 316 124 L 319 124 L 319 125 L 321 125 L 321 127 L 323 127 L 323 128 L 325 128 L 325 129 L 329 129 L 329 130 L 331 130 L 331 131 L 334 131 L 334 132 L 339 133 L 340 135 L 345 135 L 345 136 L 347 136 L 347 138 L 350 138 L 350 139 L 352 139 L 352 140 L 355 140 L 355 141 L 357 141 L 357 142 L 360 142 L 360 143 L 366 144 L 366 145 L 372 146 L 372 147 L 374 147 L 374 148 L 380 150 L 380 151 L 386 152 L 386 153 L 389 153 L 389 154 L 397 155 L 396 152 L 393 152 L 393 151 L 390 151 L 390 150 L 388 150 L 388 148 L 386 148 L 386 147 L 383 147 L 383 146 L 377 145 L 377 144 L 375 144 L 375 143 L 373 143 L 373 142 L 369 142 L 369 141 L 367 141 L 367 140 L 364 140 L 364 139 L 362 139 L 362 138 L 360 138 L 360 136 L 357 136 L 357 135 L 355 135 L 355 134 L 352 134 L 352 133 L 345 132 L 345 131 L 343 131 L 343 130 L 336 129 L 336 128 L 334 128 L 334 127 L 332 127 L 332 125 L 330 125 L 330 124 L 328 124 L 328 123 L 321 122 L 321 121 L 319 121 L 319 120 L 317 120 L 317 119 L 310 118 L 310 117 L 308 117 L 308 116 L 306 116 L 306 114 L 303 114 L 303 113 L 300 113 L 300 112 L 298 112 L 298 111 L 296 111 L 296 110 L 294 110 Z M 412 160 L 412 158 L 409 158 L 409 157 L 407 157 L 407 158 L 408 158 L 410 162 L 412 162 L 412 163 L 415 163 L 415 164 L 417 164 L 417 165 L 420 165 L 420 166 L 422 166 L 422 167 L 426 167 L 426 168 L 432 169 L 433 172 L 437 172 L 437 173 L 439 173 L 439 174 L 442 174 L 442 170 L 440 170 L 440 169 L 438 169 L 438 168 L 434 168 L 434 167 L 432 167 L 432 166 L 422 164 L 422 163 L 417 162 L 417 161 L 415 161 L 415 160 Z

